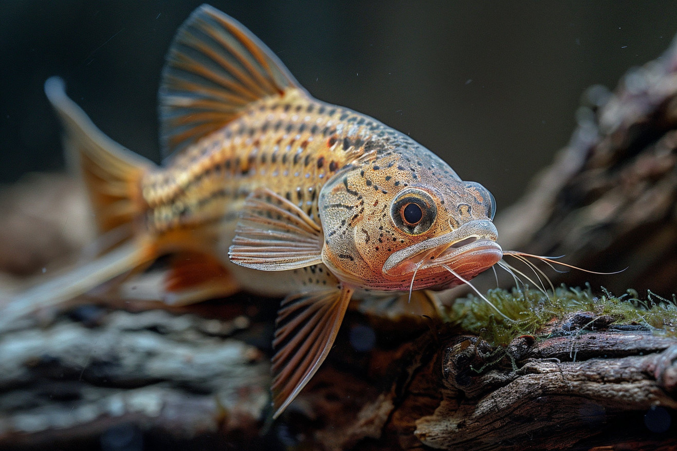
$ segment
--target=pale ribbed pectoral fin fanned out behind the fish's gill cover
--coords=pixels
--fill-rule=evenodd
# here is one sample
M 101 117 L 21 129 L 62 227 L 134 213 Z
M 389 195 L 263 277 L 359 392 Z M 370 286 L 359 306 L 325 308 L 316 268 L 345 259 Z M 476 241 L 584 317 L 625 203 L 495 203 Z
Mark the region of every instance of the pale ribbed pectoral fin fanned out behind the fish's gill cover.
M 264 271 L 322 263 L 322 229 L 303 210 L 269 189 L 249 195 L 228 256 L 241 266 Z

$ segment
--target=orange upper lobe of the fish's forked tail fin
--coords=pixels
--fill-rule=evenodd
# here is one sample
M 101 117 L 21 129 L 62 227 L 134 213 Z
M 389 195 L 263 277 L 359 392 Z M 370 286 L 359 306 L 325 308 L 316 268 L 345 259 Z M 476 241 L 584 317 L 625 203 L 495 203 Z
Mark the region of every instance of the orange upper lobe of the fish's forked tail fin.
M 64 124 L 64 147 L 81 170 L 99 231 L 131 223 L 144 210 L 141 176 L 154 164 L 104 135 L 68 98 L 61 78 L 49 78 L 45 94 Z

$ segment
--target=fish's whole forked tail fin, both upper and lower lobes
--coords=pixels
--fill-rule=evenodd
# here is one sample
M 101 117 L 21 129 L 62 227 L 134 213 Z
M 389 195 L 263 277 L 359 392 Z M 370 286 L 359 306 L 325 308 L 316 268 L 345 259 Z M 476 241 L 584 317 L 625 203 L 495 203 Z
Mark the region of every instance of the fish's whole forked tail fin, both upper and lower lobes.
M 105 247 L 117 247 L 64 275 L 2 300 L 0 304 L 7 306 L 0 310 L 0 329 L 39 308 L 75 298 L 157 256 L 154 243 L 143 233 L 135 233 L 133 227 L 146 210 L 141 177 L 152 170 L 152 162 L 131 153 L 96 128 L 68 98 L 61 78 L 49 78 L 45 93 L 64 124 L 64 147 L 81 170 L 99 231 L 105 234 L 100 242 L 114 237 L 114 242 Z

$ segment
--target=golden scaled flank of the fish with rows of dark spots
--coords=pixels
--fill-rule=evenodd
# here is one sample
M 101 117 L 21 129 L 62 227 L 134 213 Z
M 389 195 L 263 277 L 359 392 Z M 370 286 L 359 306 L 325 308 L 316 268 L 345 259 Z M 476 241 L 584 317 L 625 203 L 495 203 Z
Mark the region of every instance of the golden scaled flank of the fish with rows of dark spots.
M 165 231 L 223 217 L 227 210 L 238 210 L 237 201 L 261 186 L 275 187 L 317 218 L 318 193 L 332 174 L 357 160 L 376 162 L 391 157 L 394 149 L 416 145 L 372 118 L 294 91 L 259 103 L 223 130 L 185 149 L 169 168 L 144 177 L 150 229 Z M 395 159 L 380 164 L 390 169 Z M 374 163 L 372 172 L 379 168 Z M 402 168 L 402 172 L 416 174 L 416 168 Z M 378 181 L 374 191 L 383 194 L 402 179 L 369 177 L 367 183 Z

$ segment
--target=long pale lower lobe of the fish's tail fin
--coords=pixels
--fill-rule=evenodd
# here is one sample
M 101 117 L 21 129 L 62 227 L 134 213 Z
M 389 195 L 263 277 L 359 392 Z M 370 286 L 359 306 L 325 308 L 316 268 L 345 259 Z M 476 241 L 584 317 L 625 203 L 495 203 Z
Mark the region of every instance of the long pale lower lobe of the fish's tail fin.
M 9 299 L 6 302 L 7 307 L 0 310 L 0 330 L 22 316 L 75 298 L 154 258 L 156 252 L 148 245 L 134 241 L 121 245 L 93 262 L 83 264 Z

